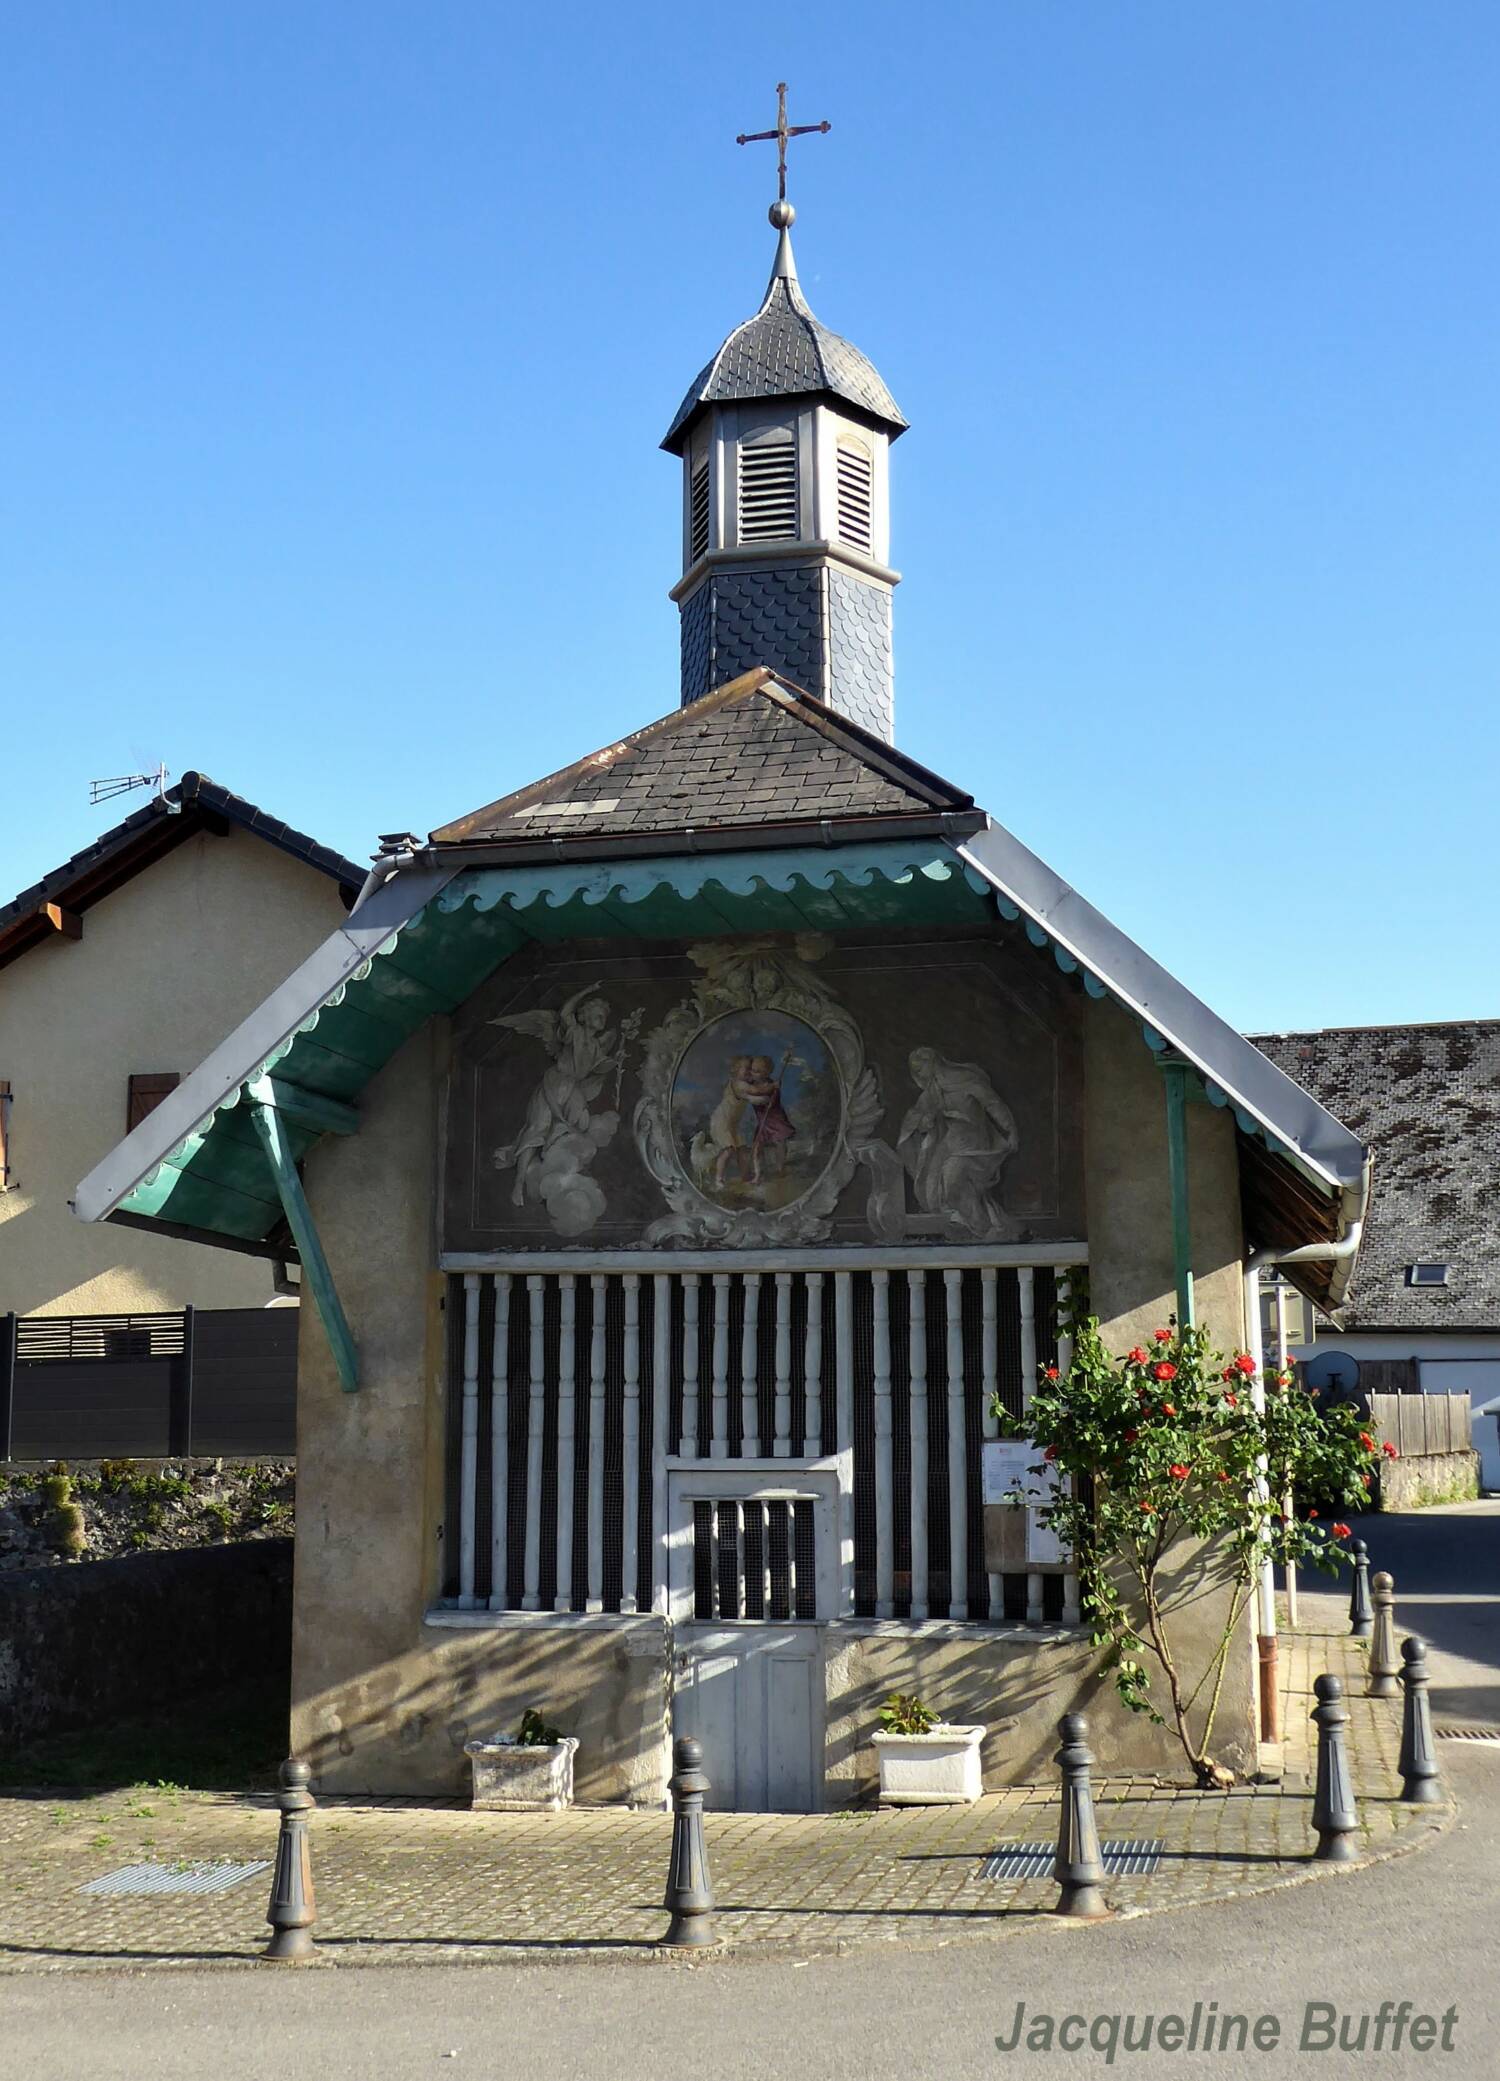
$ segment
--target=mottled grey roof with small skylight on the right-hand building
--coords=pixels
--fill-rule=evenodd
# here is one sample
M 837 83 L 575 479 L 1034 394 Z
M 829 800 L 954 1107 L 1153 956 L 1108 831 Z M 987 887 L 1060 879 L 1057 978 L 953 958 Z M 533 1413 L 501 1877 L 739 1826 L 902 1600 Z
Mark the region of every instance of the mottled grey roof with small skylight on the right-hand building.
M 1375 1153 L 1344 1326 L 1500 1328 L 1500 1020 L 1252 1038 Z M 1415 1263 L 1448 1286 L 1408 1286 Z

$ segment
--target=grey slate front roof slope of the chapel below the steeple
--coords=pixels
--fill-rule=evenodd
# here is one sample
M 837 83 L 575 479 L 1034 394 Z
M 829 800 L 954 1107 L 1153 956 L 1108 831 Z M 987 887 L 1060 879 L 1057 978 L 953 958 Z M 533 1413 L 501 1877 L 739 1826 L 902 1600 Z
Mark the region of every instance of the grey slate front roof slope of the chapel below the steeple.
M 445 824 L 433 845 L 741 826 L 751 843 L 764 824 L 972 807 L 972 795 L 757 670 Z

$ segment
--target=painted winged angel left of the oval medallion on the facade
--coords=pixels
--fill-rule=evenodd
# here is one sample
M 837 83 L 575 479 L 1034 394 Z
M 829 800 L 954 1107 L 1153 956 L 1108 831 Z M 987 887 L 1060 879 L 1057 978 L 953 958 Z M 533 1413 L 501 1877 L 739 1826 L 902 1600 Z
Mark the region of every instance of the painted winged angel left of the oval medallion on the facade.
M 589 1170 L 620 1126 L 624 1051 L 641 1028 L 632 1011 L 618 1028 L 607 1001 L 587 984 L 560 1011 L 508 1011 L 491 1026 L 541 1040 L 551 1063 L 541 1074 L 514 1142 L 495 1151 L 495 1170 L 514 1170 L 512 1205 L 541 1203 L 560 1236 L 580 1236 L 605 1211 Z M 593 1101 L 614 1082 L 614 1105 L 601 1113 Z

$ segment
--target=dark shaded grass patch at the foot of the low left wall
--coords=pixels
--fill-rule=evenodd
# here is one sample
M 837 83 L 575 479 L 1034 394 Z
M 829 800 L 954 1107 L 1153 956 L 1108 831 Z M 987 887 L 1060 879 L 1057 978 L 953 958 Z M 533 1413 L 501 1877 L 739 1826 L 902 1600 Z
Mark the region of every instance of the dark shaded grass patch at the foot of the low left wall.
M 266 1792 L 285 1754 L 287 1698 L 233 1688 L 181 1700 L 171 1715 L 0 1750 L 0 1790 Z

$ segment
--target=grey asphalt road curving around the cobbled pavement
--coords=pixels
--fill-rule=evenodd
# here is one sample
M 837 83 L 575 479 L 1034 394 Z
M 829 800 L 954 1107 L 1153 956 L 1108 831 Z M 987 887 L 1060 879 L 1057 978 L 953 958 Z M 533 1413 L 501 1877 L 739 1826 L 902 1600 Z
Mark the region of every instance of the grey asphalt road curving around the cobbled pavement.
M 1471 1515 L 1473 1523 L 1463 1523 Z M 1377 1559 L 1411 1598 L 1456 1584 L 1500 1584 L 1500 1513 L 1381 1519 Z M 1371 1536 L 1371 1548 L 1375 1548 Z M 1400 1559 L 1398 1559 L 1400 1555 Z M 1485 1590 L 1483 1586 L 1492 1586 Z M 1500 1661 L 1490 1607 L 1483 1627 L 1448 1625 L 1423 1607 L 1433 1640 L 1454 1642 L 1465 1671 Z M 1444 1652 L 1450 1652 L 1444 1648 Z M 1485 1661 L 1483 1656 L 1490 1656 Z M 1458 1667 L 1454 1663 L 1452 1667 Z M 1444 1665 L 1444 1675 L 1448 1675 Z M 1458 1688 L 1458 1686 L 1454 1686 Z M 1475 1686 L 1479 1688 L 1479 1686 Z M 1444 1742 L 1440 1758 L 1460 1819 L 1433 1848 L 1369 1871 L 1178 1915 L 1098 1927 L 1028 1927 L 988 1944 L 861 1952 L 849 1958 L 745 1958 L 699 1967 L 605 1960 L 426 1969 L 275 1969 L 239 1973 L 52 1975 L 0 1979 L 0 2081 L 77 2069 L 89 2081 L 385 2081 L 408 2075 L 572 2077 L 1005 2077 L 1069 2081 L 1111 2071 L 1111 2016 L 1275 2016 L 1275 2050 L 1119 2048 L 1113 2071 L 1342 2077 L 1490 2077 L 1500 2066 L 1500 1746 Z M 1298 2048 L 1307 2004 L 1336 2016 L 1411 2002 L 1433 2019 L 1433 2048 L 1413 2052 Z M 1021 2046 L 999 2050 L 1015 2031 Z M 1442 2050 L 1446 2035 L 1452 2050 Z M 1026 2050 L 1038 2014 L 1080 2014 L 1096 2050 Z M 1105 2019 L 1094 2023 L 1094 2019 Z M 1140 2023 L 1136 2025 L 1140 2029 Z M 1119 2035 L 1123 2037 L 1123 2025 Z M 1263 2027 L 1263 2039 L 1269 2031 Z M 1390 2025 L 1386 2027 L 1390 2035 Z

